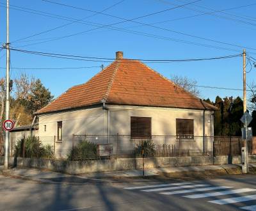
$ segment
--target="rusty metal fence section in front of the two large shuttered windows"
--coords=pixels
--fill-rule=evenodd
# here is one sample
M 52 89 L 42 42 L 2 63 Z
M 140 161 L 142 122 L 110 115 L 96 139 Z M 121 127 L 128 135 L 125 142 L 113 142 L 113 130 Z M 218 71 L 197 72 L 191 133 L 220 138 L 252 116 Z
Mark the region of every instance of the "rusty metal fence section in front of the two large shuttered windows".
M 212 140 L 209 136 L 151 136 L 148 139 L 133 139 L 127 135 L 74 135 L 72 141 L 72 160 L 104 159 L 108 157 L 170 157 L 189 155 L 211 155 Z M 85 146 L 94 144 L 94 153 Z M 147 144 L 147 146 L 146 146 Z M 97 146 L 96 146 L 97 145 Z M 148 146 L 150 145 L 150 146 Z M 143 148 L 144 152 L 141 151 Z M 150 151 L 150 153 L 148 152 Z

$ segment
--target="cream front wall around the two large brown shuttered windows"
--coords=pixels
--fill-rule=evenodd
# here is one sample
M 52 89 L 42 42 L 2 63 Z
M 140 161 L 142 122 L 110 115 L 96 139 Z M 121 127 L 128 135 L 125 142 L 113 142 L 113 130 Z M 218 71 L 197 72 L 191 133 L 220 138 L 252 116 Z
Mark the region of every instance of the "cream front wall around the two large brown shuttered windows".
M 131 133 L 131 116 L 141 116 L 151 118 L 152 136 L 175 136 L 176 135 L 176 118 L 194 120 L 193 140 L 182 141 L 180 148 L 202 152 L 204 134 L 212 136 L 213 134 L 213 111 L 205 111 L 205 133 L 204 129 L 204 111 L 192 109 L 174 109 L 174 108 L 157 108 L 141 106 L 117 106 L 109 105 L 110 109 L 110 134 L 129 135 Z M 211 128 L 212 127 L 212 128 Z M 126 150 L 132 150 L 134 143 L 127 137 L 120 137 L 120 145 Z M 176 137 L 152 137 L 154 143 L 159 146 L 163 144 L 177 148 L 179 145 Z M 211 151 L 211 138 L 207 138 L 205 151 Z

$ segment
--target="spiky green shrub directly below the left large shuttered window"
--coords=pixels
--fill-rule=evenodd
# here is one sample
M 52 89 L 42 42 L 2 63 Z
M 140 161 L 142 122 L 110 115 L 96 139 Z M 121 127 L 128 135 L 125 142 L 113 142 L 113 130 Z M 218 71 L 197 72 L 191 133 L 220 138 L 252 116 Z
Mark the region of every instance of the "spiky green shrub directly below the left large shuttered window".
M 140 141 L 134 149 L 135 155 L 142 155 L 142 150 L 145 156 L 154 156 L 156 145 L 152 140 Z

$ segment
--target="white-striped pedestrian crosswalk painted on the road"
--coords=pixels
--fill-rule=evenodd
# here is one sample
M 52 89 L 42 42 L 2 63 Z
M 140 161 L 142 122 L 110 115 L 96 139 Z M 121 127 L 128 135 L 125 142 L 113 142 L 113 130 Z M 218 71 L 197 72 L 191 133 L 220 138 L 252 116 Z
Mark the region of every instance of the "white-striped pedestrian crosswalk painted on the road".
M 228 205 L 228 204 L 233 205 L 234 203 L 247 202 L 247 201 L 256 203 L 256 189 L 253 189 L 253 188 L 235 189 L 234 187 L 230 187 L 230 186 L 195 184 L 193 182 L 176 182 L 176 183 L 170 183 L 170 184 L 124 187 L 124 189 L 131 190 L 131 191 L 152 192 L 152 193 L 164 194 L 164 195 L 177 194 L 183 198 L 188 198 L 188 199 L 210 198 L 209 201 L 207 202 L 214 203 L 216 205 Z M 195 194 L 195 192 L 199 192 L 199 193 Z M 234 197 L 230 197 L 230 195 L 232 196 L 232 194 Z M 250 194 L 250 195 L 241 196 L 241 194 Z M 211 200 L 211 198 L 213 197 L 216 198 L 216 196 L 223 196 L 227 198 Z M 240 208 L 242 210 L 256 211 L 256 205 L 237 207 L 237 208 Z

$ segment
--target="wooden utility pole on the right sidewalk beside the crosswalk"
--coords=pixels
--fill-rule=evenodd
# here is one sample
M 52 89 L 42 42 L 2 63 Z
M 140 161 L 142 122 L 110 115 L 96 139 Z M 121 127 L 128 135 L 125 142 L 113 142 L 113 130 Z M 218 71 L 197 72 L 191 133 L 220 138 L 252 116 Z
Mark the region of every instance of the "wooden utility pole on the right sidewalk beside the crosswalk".
M 243 51 L 243 111 L 246 113 L 246 51 Z M 246 157 L 246 173 L 248 173 L 248 145 L 247 145 L 247 118 L 245 118 L 245 157 Z

